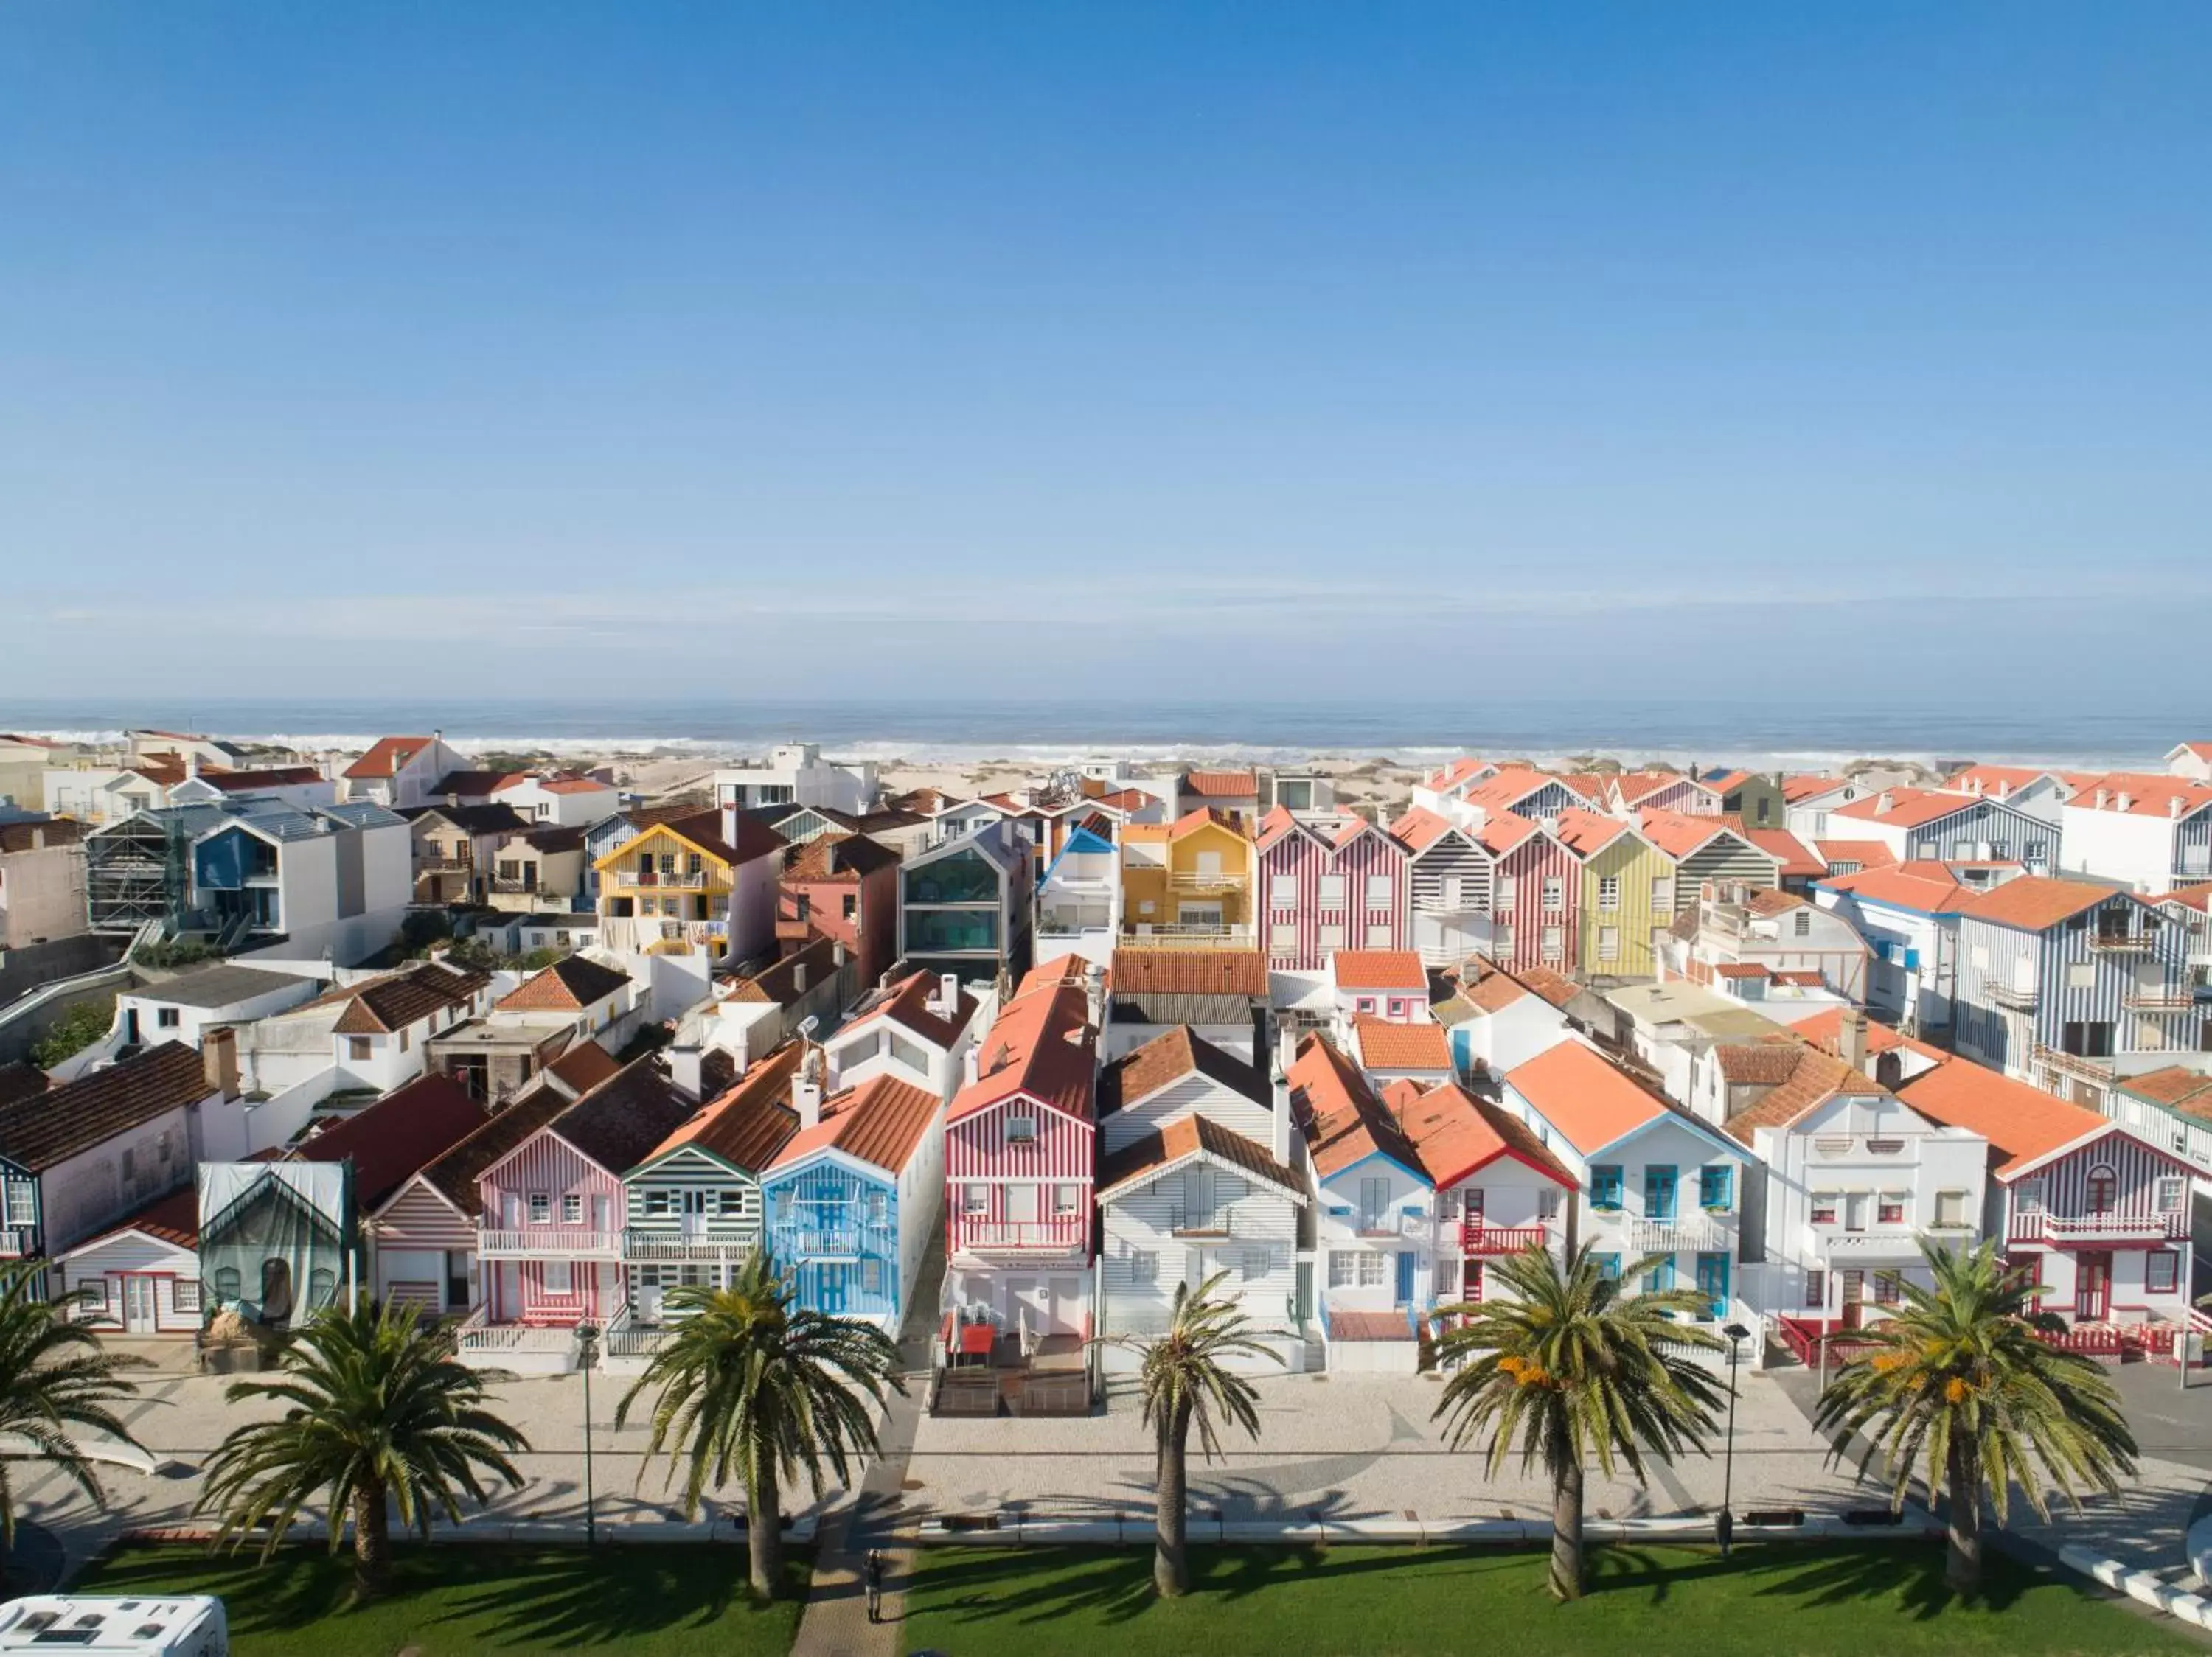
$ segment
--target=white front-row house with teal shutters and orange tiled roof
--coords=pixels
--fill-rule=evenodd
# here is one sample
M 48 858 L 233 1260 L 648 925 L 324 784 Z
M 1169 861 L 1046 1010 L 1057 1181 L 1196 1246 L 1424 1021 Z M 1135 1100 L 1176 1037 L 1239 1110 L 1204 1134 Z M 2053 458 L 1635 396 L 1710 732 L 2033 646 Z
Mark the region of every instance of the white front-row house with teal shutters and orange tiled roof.
M 1739 1142 L 1670 1108 L 1582 1042 L 1506 1073 L 1504 1102 L 1582 1181 L 1582 1241 L 1604 1270 L 1652 1261 L 1646 1288 L 1697 1288 L 1712 1321 L 1759 1327 L 1739 1268 L 1754 1168 Z

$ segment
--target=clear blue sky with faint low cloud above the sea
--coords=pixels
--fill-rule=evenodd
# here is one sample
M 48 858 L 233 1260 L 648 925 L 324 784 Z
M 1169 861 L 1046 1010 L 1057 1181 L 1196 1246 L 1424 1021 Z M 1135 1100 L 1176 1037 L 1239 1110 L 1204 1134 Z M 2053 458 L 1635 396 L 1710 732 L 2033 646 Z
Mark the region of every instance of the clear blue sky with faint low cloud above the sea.
M 2205 62 L 2197 0 L 9 0 L 0 695 L 2208 712 L 2141 648 L 2212 619 Z

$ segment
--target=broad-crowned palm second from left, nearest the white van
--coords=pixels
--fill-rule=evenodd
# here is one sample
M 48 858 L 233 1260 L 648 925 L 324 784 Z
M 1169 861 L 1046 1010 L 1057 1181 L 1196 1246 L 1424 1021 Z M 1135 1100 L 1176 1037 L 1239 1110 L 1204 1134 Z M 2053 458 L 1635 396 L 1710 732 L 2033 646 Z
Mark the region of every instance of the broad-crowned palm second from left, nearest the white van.
M 327 1496 L 332 1553 L 352 1509 L 363 1597 L 383 1591 L 392 1562 L 387 1500 L 429 1538 L 434 1513 L 460 1522 L 460 1491 L 487 1500 L 482 1473 L 522 1484 L 509 1453 L 529 1442 L 484 1409 L 484 1383 L 453 1358 L 453 1327 L 422 1323 L 405 1305 L 378 1310 L 363 1299 L 316 1312 L 283 1347 L 276 1380 L 237 1380 L 228 1398 L 290 1407 L 230 1431 L 195 1511 L 215 1511 L 219 1540 L 228 1535 L 234 1549 L 268 1524 L 268 1560 L 299 1511 Z

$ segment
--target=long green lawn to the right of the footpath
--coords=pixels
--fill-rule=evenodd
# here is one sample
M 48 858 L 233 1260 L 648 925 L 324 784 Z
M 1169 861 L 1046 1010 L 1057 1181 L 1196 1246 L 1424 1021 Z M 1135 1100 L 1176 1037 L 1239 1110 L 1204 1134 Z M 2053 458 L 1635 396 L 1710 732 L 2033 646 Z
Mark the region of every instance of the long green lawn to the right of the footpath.
M 1115 1657 L 1907 1657 L 2201 1650 L 2172 1624 L 2002 1557 L 1980 1606 L 1938 1546 L 1599 1549 L 1593 1591 L 1544 1593 L 1546 1555 L 1473 1549 L 1194 1549 L 1194 1591 L 1159 1602 L 1150 1549 L 922 1549 L 907 1650 Z

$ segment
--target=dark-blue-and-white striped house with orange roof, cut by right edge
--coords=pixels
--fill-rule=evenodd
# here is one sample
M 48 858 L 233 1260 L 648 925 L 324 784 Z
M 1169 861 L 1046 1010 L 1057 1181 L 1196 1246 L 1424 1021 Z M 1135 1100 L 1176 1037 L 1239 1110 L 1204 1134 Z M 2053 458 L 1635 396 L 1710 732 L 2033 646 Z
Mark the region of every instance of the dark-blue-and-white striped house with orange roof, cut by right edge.
M 2197 1007 L 2188 929 L 2128 892 L 2022 876 L 1960 909 L 1953 1044 L 2059 1097 L 2194 1049 Z

